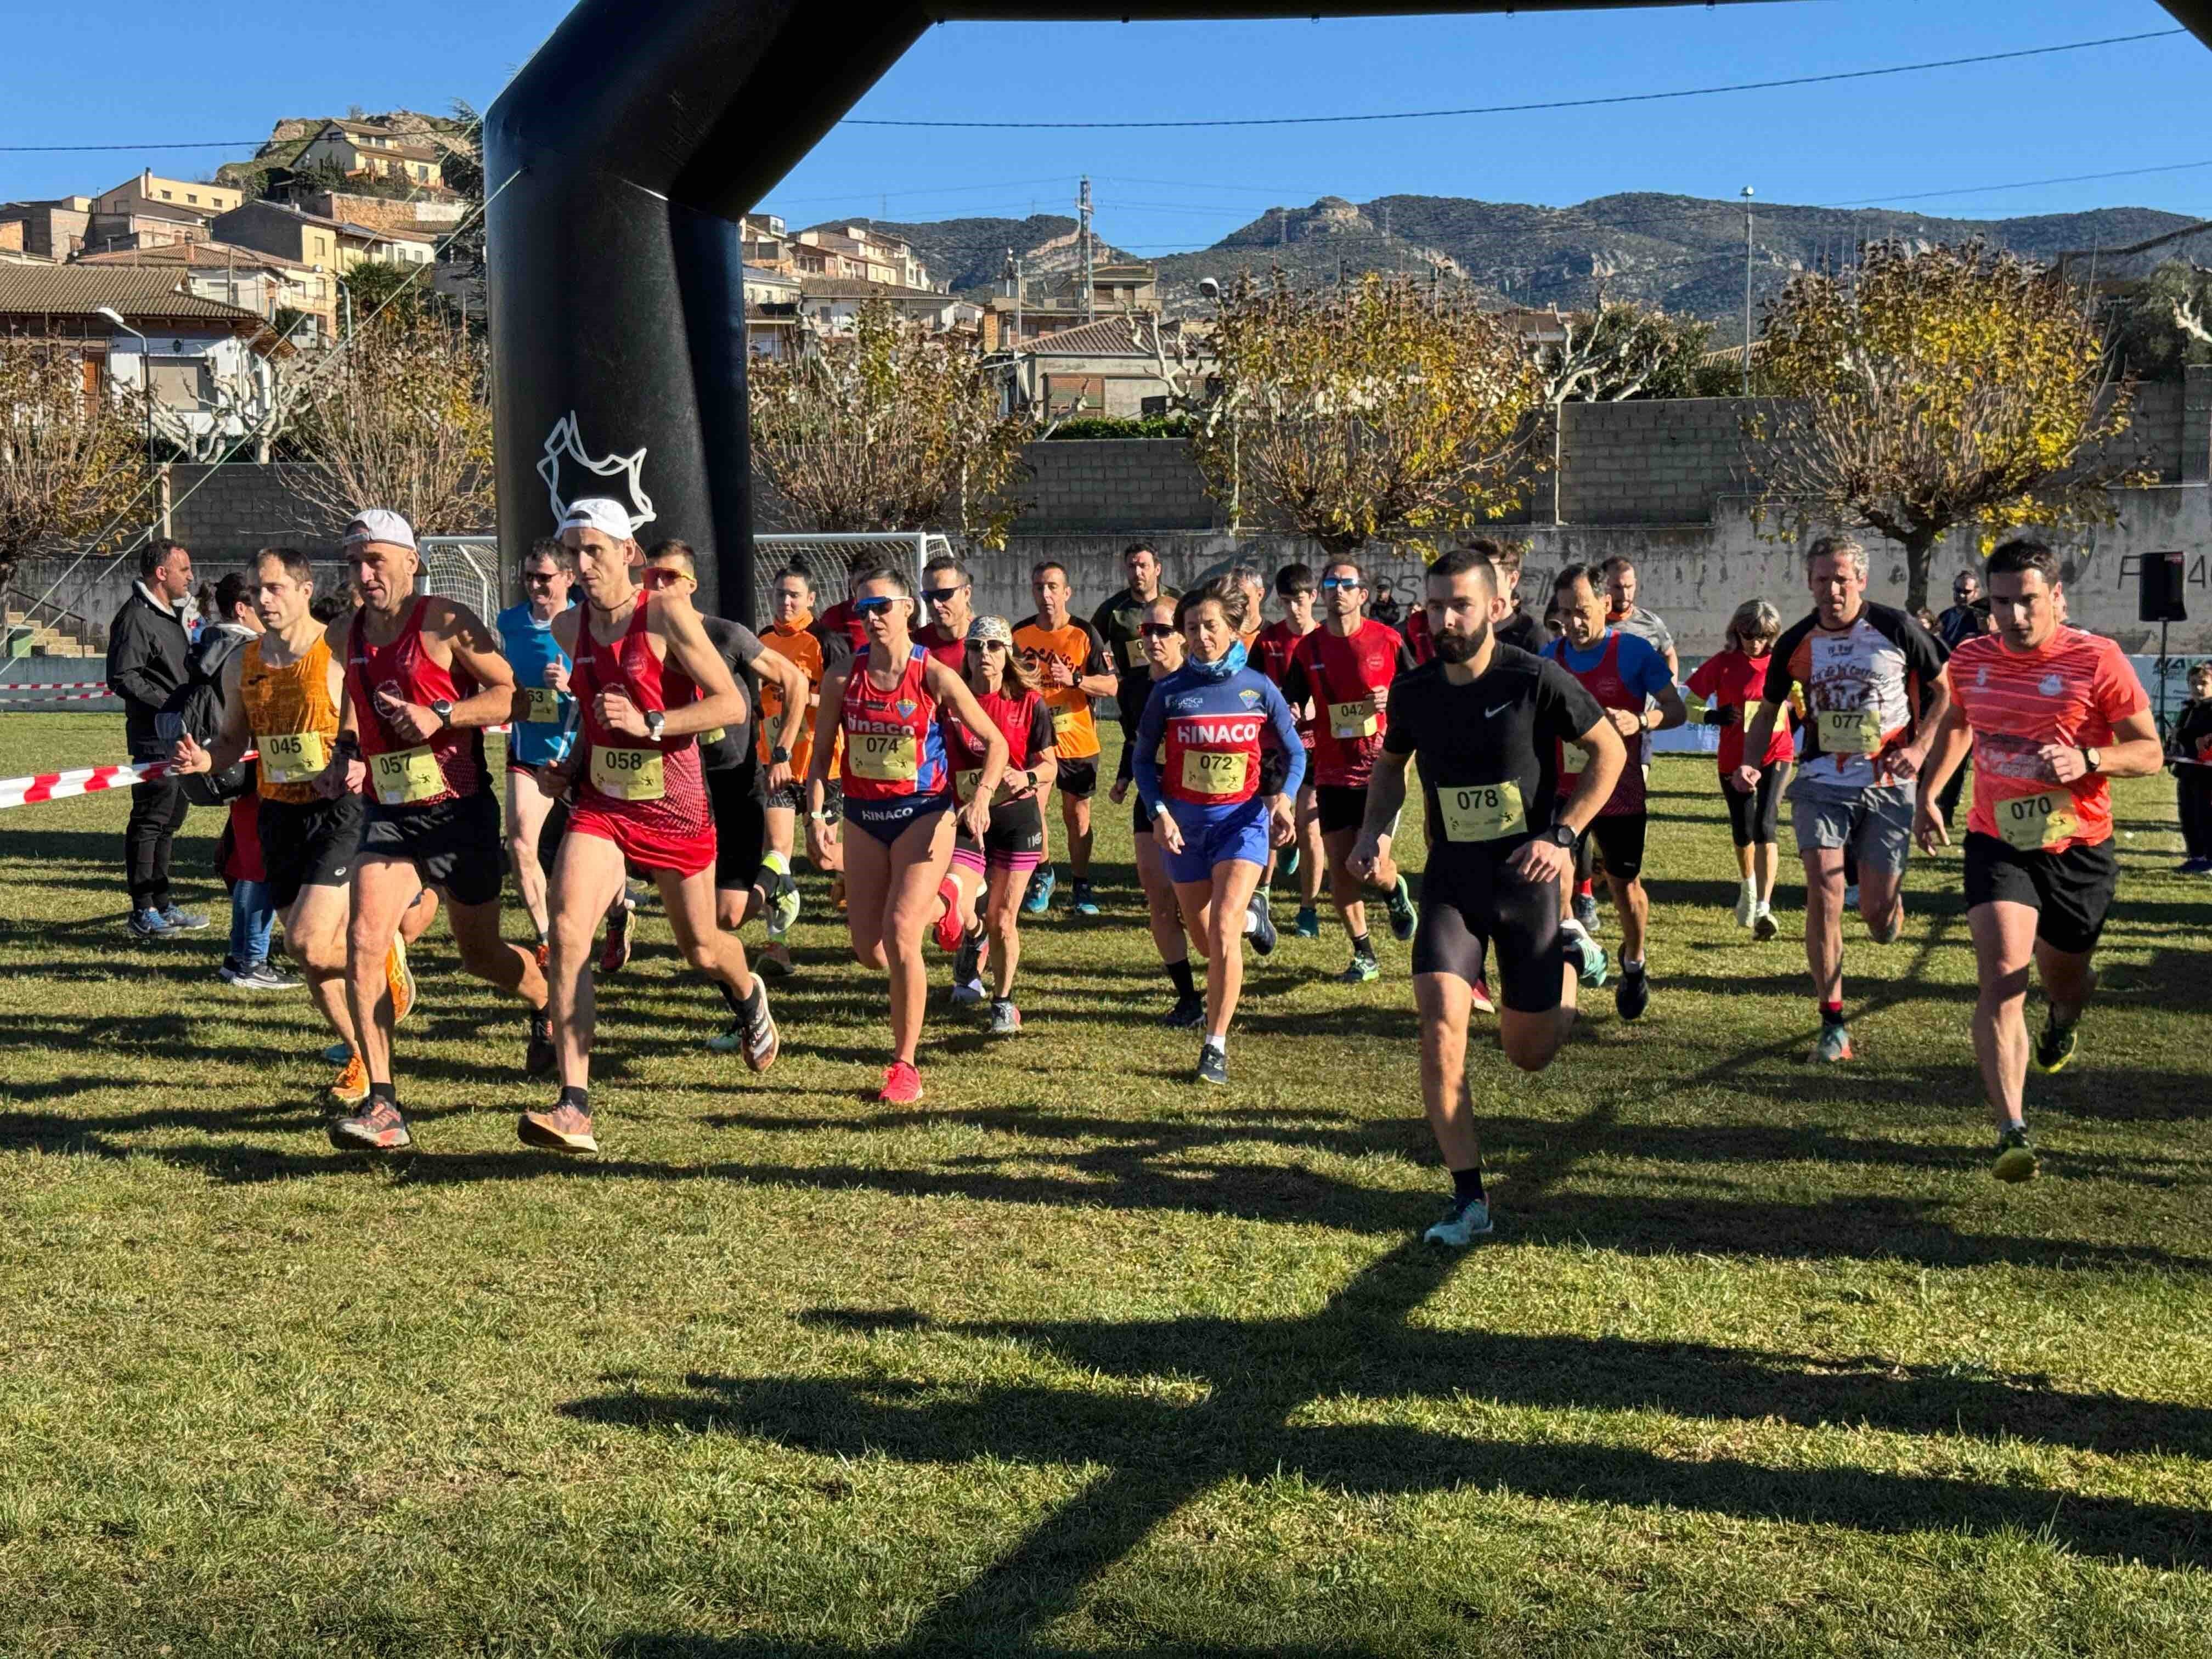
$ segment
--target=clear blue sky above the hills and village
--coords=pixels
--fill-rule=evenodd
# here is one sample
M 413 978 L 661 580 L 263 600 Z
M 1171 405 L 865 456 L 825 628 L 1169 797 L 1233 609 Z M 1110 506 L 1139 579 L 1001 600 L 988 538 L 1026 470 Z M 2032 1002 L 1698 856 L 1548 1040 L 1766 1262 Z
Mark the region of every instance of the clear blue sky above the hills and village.
M 199 175 L 279 115 L 489 104 L 564 7 L 438 13 L 237 0 L 20 11 L 0 64 L 0 199 L 97 192 L 142 164 Z M 947 24 L 854 115 L 1172 119 L 1601 97 L 1871 69 L 2172 27 L 2150 0 L 1796 0 L 1608 13 L 1321 22 Z M 146 88 L 155 88 L 148 93 Z M 1845 204 L 2053 175 L 2205 166 L 1911 206 L 2006 217 L 2139 204 L 2212 217 L 2212 51 L 2188 35 L 1843 86 L 1599 111 L 1374 126 L 960 133 L 845 126 L 761 204 L 794 223 L 1071 210 L 1091 173 L 1099 232 L 1139 252 L 1206 246 L 1272 204 L 1471 195 L 1571 204 L 1619 190 Z

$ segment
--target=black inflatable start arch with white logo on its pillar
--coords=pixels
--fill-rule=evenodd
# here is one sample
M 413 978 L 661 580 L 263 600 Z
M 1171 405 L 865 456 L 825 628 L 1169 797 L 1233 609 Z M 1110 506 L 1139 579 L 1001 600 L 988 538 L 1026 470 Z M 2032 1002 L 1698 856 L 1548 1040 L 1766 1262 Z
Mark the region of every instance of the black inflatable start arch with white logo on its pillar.
M 2212 42 L 2212 0 L 2166 7 Z M 1325 7 L 1553 9 L 1568 4 Z M 555 500 L 626 489 L 639 535 L 692 542 L 708 604 L 752 619 L 739 215 L 922 29 L 1274 15 L 1312 7 L 584 0 L 484 117 L 502 562 L 551 531 Z

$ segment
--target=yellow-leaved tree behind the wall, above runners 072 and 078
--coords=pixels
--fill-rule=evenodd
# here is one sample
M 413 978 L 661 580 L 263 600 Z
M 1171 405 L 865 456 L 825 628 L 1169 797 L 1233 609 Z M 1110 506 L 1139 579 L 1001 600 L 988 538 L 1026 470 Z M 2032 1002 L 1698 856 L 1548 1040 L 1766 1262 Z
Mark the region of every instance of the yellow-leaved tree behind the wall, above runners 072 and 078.
M 1190 447 L 1232 511 L 1334 555 L 1453 535 L 1526 493 L 1544 376 L 1467 301 L 1380 274 L 1321 292 L 1245 276 L 1212 347 Z

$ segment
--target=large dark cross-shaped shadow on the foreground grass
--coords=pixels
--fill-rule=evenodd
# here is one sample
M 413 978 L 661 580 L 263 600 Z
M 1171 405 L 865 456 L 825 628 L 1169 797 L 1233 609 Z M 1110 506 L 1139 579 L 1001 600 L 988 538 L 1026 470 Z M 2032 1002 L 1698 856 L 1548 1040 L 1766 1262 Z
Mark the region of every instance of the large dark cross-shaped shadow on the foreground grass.
M 1398 1422 L 1307 1420 L 1316 1400 L 1418 1394 L 1475 1402 L 1478 1409 L 1462 1405 L 1469 1429 L 1482 1422 L 1480 1402 L 1498 1400 L 1754 1422 L 1781 1416 L 1801 1427 L 1867 1422 L 1905 1433 L 2031 1433 L 2097 1451 L 2197 1449 L 2212 1438 L 2212 1413 L 2192 1407 L 2073 1396 L 2013 1380 L 1900 1376 L 1874 1360 L 1814 1367 L 1701 1345 L 1409 1327 L 1407 1318 L 1453 1265 L 1447 1252 L 1402 1245 L 1303 1318 L 931 1327 L 909 1310 L 810 1316 L 816 1325 L 860 1336 L 880 1332 L 891 1340 L 918 1329 L 1011 1340 L 1113 1378 L 1199 1378 L 1208 1394 L 1194 1405 L 1082 1387 L 938 1389 L 905 1380 L 706 1374 L 686 1378 L 686 1394 L 622 1391 L 560 1409 L 593 1425 L 743 1433 L 834 1458 L 1097 1462 L 1110 1469 L 933 1606 L 900 1644 L 902 1652 L 1022 1644 L 1071 1613 L 1088 1584 L 1206 1491 L 1223 1482 L 1263 1484 L 1285 1473 L 1352 1495 L 1506 1491 L 1891 1535 L 2028 1533 L 2081 1555 L 2161 1566 L 2208 1559 L 2212 1515 L 2181 1504 L 1869 1469 L 1674 1460 L 1632 1447 L 1515 1442 Z

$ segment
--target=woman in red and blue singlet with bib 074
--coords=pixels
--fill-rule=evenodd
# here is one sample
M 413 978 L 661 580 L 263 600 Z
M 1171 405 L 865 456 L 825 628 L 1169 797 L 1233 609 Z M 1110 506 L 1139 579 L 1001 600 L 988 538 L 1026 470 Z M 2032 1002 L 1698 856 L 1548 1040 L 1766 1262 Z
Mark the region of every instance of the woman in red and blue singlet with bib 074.
M 860 832 L 845 836 L 845 922 L 852 953 L 891 975 L 891 1064 L 878 1099 L 911 1104 L 922 1097 L 914 1051 L 929 1000 L 922 936 L 938 916 L 956 816 L 975 841 L 991 825 L 1006 739 L 960 675 L 914 641 L 914 584 L 905 575 L 856 575 L 852 613 L 867 630 L 867 650 L 823 675 L 807 768 L 807 854 L 816 865 L 830 856 L 823 799 L 843 739 L 845 823 Z M 975 794 L 964 805 L 953 801 L 940 708 L 982 739 Z

